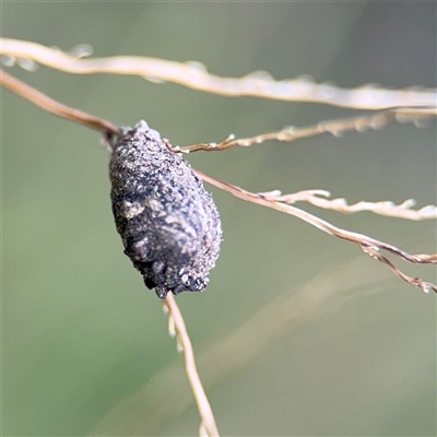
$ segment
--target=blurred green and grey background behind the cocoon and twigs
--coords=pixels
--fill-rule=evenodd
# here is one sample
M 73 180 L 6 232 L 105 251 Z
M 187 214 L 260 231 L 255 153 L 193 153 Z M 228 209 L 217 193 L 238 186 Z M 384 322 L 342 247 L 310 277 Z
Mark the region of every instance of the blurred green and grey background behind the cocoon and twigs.
M 97 57 L 196 60 L 227 76 L 435 87 L 435 16 L 434 2 L 4 2 L 2 34 L 66 50 L 87 43 Z M 135 76 L 10 71 L 115 123 L 145 119 L 174 144 L 351 115 Z M 3 435 L 196 435 L 182 356 L 115 231 L 98 134 L 9 92 L 1 121 Z M 190 162 L 251 191 L 436 202 L 434 122 Z M 177 302 L 222 435 L 434 436 L 435 296 L 357 247 L 211 190 L 222 255 L 208 291 Z M 435 222 L 304 208 L 410 252 L 436 250 Z M 436 281 L 433 267 L 398 265 Z

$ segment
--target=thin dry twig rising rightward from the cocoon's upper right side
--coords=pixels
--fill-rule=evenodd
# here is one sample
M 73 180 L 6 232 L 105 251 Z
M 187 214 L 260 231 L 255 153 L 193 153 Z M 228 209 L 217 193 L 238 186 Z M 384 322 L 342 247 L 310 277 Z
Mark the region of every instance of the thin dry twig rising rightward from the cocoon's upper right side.
M 392 108 L 381 110 L 377 114 L 345 118 L 341 120 L 321 121 L 317 125 L 296 128 L 294 126 L 286 127 L 279 132 L 269 132 L 251 138 L 235 139 L 231 134 L 220 143 L 199 143 L 177 147 L 178 152 L 192 153 L 198 151 L 220 152 L 233 147 L 249 147 L 251 145 L 261 144 L 265 141 L 282 141 L 292 143 L 303 138 L 316 137 L 322 133 L 331 133 L 340 137 L 345 132 L 364 132 L 368 129 L 381 129 L 390 122 L 414 122 L 421 126 L 421 122 L 429 117 L 437 116 L 436 107 L 416 107 L 416 108 Z

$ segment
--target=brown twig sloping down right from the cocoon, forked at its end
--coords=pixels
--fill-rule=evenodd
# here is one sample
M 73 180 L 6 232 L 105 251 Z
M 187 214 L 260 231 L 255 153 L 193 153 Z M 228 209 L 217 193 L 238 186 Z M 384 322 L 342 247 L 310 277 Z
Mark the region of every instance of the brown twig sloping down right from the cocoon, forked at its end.
M 200 177 L 202 180 L 204 180 L 208 184 L 213 185 L 214 187 L 217 187 L 224 191 L 227 191 L 232 193 L 233 196 L 246 200 L 248 202 L 252 202 L 262 206 L 268 206 L 272 208 L 274 210 L 284 212 L 286 214 L 294 215 L 304 222 L 307 222 L 311 224 L 312 226 L 316 226 L 317 228 L 323 231 L 324 233 L 329 235 L 333 235 L 338 238 L 344 239 L 350 243 L 354 243 L 358 245 L 358 247 L 367 255 L 371 256 L 374 259 L 377 259 L 378 261 L 382 262 L 383 264 L 388 265 L 399 277 L 401 277 L 403 281 L 408 282 L 411 285 L 415 285 L 421 287 L 425 293 L 428 293 L 429 291 L 434 291 L 437 293 L 437 285 L 430 283 L 430 282 L 424 282 L 418 277 L 410 277 L 402 273 L 398 268 L 395 268 L 387 258 L 385 258 L 382 255 L 377 253 L 379 250 L 386 250 L 405 261 L 415 263 L 415 264 L 437 264 L 437 253 L 433 255 L 410 255 L 401 249 L 398 249 L 395 246 L 389 245 L 383 241 L 379 241 L 375 238 L 370 238 L 367 235 L 345 231 L 342 228 L 339 228 L 336 226 L 331 225 L 330 223 L 326 222 L 324 220 L 321 220 L 312 214 L 309 214 L 306 211 L 299 210 L 298 208 L 292 206 L 290 204 L 283 203 L 283 202 L 276 202 L 273 200 L 269 200 L 265 198 L 263 194 L 257 194 L 250 191 L 246 191 L 239 187 L 235 187 L 231 184 L 223 182 L 218 179 L 215 179 L 209 175 L 205 175 L 204 173 L 201 173 L 199 170 L 194 170 L 198 177 Z M 375 256 L 377 255 L 377 256 Z

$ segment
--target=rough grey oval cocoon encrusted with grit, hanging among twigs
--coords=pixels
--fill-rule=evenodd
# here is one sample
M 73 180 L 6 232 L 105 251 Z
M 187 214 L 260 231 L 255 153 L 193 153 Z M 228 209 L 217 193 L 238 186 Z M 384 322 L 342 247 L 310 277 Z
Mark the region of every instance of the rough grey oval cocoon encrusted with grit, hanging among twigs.
M 220 252 L 215 204 L 191 166 L 140 121 L 111 160 L 111 201 L 125 253 L 158 297 L 201 292 Z

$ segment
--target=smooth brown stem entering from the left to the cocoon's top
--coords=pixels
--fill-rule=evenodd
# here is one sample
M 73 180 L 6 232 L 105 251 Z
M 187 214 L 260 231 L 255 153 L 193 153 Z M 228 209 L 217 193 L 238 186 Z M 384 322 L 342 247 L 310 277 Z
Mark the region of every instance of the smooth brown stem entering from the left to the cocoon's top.
M 58 117 L 79 122 L 90 129 L 94 129 L 103 133 L 113 133 L 115 135 L 119 134 L 120 128 L 110 121 L 91 116 L 82 110 L 73 109 L 67 105 L 54 101 L 26 83 L 8 74 L 3 70 L 0 70 L 0 84 L 7 90 L 12 91 L 26 101 L 32 102 L 34 105 L 47 110 L 48 113 L 55 114 Z

